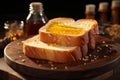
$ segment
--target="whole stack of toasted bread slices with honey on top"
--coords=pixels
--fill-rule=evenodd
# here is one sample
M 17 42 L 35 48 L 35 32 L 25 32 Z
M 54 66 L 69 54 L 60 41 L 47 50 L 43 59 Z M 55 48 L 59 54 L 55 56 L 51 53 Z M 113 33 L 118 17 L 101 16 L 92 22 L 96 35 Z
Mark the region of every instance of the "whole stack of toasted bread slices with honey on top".
M 60 63 L 74 62 L 95 48 L 98 23 L 93 19 L 54 18 L 23 42 L 26 56 Z

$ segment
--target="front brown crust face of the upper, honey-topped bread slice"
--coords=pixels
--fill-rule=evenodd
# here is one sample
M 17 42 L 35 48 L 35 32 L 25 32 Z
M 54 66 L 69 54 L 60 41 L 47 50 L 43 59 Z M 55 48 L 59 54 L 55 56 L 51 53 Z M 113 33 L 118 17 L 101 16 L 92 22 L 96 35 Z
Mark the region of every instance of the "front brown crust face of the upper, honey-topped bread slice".
M 39 32 L 40 40 L 48 44 L 59 44 L 63 46 L 81 46 L 88 42 L 88 33 L 80 36 L 60 35 L 47 32 Z

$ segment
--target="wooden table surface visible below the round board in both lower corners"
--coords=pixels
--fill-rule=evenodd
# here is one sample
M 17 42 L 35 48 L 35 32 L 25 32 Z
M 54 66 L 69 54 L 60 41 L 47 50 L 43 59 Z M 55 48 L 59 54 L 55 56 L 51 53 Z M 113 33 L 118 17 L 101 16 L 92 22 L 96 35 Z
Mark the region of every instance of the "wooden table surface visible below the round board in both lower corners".
M 0 80 L 42 80 L 34 79 L 29 76 L 24 76 L 14 71 L 4 61 L 4 57 L 0 58 Z M 115 69 L 108 71 L 100 76 L 97 76 L 90 80 L 120 80 L 120 66 L 116 66 Z

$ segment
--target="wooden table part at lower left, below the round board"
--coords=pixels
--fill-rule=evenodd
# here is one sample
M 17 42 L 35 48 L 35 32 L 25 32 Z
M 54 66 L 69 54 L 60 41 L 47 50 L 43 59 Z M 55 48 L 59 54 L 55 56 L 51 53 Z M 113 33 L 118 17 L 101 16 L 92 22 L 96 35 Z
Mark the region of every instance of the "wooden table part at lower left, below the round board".
M 1 79 L 2 80 L 26 80 L 19 73 L 15 72 L 12 68 L 10 68 L 4 61 L 3 57 L 0 58 L 0 80 Z

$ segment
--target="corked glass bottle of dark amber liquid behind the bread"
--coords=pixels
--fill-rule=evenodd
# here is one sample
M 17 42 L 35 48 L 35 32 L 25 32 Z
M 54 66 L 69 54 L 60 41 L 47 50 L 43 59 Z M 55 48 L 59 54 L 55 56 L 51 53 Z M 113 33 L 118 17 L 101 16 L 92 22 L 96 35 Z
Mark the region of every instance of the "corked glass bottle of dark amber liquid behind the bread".
M 38 34 L 38 29 L 48 21 L 41 2 L 30 3 L 29 14 L 25 22 L 25 36 Z

